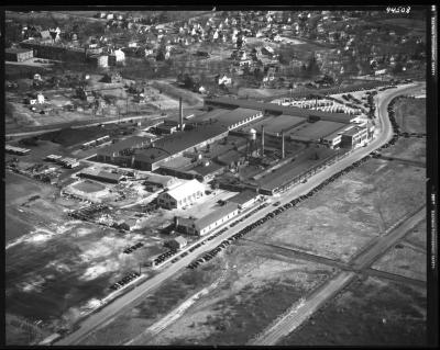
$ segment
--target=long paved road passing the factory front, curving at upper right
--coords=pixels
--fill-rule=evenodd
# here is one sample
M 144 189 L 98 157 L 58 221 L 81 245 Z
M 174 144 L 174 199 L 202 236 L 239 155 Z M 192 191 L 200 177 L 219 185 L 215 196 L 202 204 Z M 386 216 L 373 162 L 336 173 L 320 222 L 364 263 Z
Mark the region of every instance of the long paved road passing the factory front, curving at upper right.
M 287 192 L 283 194 L 283 199 L 280 199 L 282 204 L 289 202 L 293 197 L 297 197 L 299 195 L 306 194 L 310 189 L 315 188 L 332 174 L 339 172 L 340 170 L 345 169 L 348 166 L 353 163 L 354 161 L 363 158 L 367 154 L 370 154 L 372 150 L 378 148 L 382 146 L 384 143 L 386 143 L 388 139 L 392 138 L 393 136 L 393 131 L 392 126 L 389 123 L 389 120 L 387 118 L 387 111 L 386 106 L 388 102 L 394 98 L 394 95 L 402 94 L 406 91 L 409 91 L 414 89 L 414 84 L 411 87 L 406 87 L 402 89 L 394 89 L 393 91 L 386 90 L 382 97 L 382 105 L 380 105 L 380 117 L 382 121 L 382 133 L 377 136 L 376 139 L 374 139 L 367 147 L 362 147 L 353 151 L 351 155 L 346 156 L 342 160 L 338 161 L 337 163 L 329 166 L 328 168 L 323 169 L 321 172 L 316 173 L 312 176 L 307 183 L 301 183 Z M 273 206 L 267 206 L 260 211 L 257 214 L 255 214 L 258 217 L 263 217 L 267 213 L 272 212 L 274 210 Z M 249 219 L 243 221 L 239 225 L 234 226 L 233 228 L 230 228 L 227 230 L 223 235 L 218 236 L 217 238 L 208 241 L 205 246 L 200 247 L 200 249 L 197 249 L 195 253 L 190 253 L 180 260 L 178 260 L 176 263 L 170 264 L 167 269 L 164 269 L 162 272 L 160 272 L 154 278 L 145 281 L 143 284 L 139 285 L 136 289 L 128 292 L 127 294 L 122 295 L 111 304 L 105 306 L 97 313 L 90 315 L 87 319 L 85 319 L 80 325 L 77 330 L 72 332 L 70 335 L 67 335 L 64 339 L 59 340 L 55 345 L 75 345 L 79 343 L 87 335 L 92 332 L 94 330 L 98 329 L 100 326 L 102 326 L 105 323 L 107 323 L 109 319 L 114 317 L 118 313 L 127 309 L 131 305 L 133 305 L 135 302 L 140 301 L 143 298 L 148 292 L 152 292 L 155 287 L 157 287 L 160 284 L 162 284 L 164 281 L 166 281 L 168 278 L 174 275 L 177 271 L 182 270 L 185 268 L 189 262 L 193 261 L 193 259 L 207 251 L 213 249 L 217 245 L 219 245 L 226 237 L 229 237 L 249 224 L 253 223 L 255 221 L 254 215 L 252 215 Z

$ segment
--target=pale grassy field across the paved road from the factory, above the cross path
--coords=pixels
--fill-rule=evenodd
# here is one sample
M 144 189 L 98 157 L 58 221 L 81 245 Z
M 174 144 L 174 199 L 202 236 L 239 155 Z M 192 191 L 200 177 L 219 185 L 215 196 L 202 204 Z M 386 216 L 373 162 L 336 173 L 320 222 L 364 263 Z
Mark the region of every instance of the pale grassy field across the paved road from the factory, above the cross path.
M 370 160 L 249 238 L 348 261 L 424 201 L 419 168 Z

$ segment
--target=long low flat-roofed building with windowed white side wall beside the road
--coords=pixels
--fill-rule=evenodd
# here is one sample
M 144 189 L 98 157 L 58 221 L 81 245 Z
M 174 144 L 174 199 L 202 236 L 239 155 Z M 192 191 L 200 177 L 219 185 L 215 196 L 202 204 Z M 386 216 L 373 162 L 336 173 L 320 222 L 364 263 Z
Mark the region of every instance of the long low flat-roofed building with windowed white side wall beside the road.
M 229 222 L 232 217 L 239 214 L 239 208 L 235 203 L 227 203 L 217 208 L 215 212 L 200 217 L 176 217 L 176 229 L 195 236 L 205 236 L 209 232 L 216 229 L 222 224 Z

